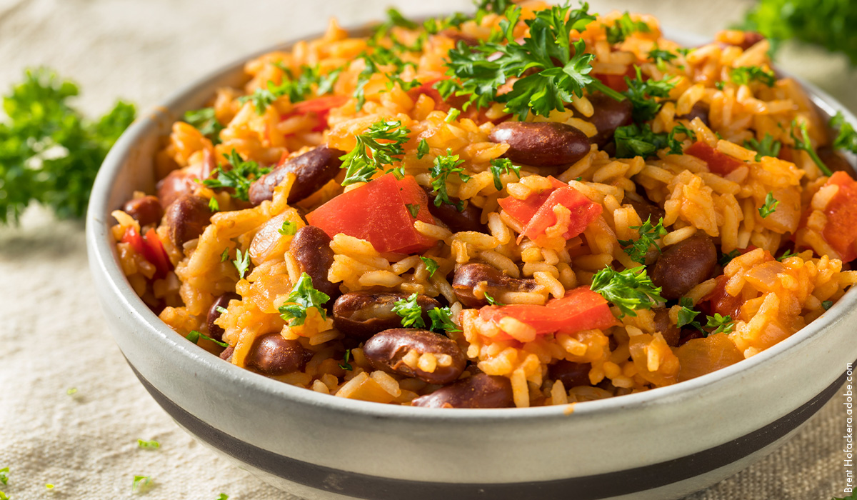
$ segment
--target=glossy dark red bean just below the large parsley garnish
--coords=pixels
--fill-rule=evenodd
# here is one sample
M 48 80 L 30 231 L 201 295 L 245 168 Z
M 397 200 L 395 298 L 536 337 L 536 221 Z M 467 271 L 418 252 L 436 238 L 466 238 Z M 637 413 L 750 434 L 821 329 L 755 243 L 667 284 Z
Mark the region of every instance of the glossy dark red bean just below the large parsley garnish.
M 590 151 L 589 137 L 566 123 L 503 122 L 488 139 L 508 144 L 509 160 L 532 166 L 569 165 Z

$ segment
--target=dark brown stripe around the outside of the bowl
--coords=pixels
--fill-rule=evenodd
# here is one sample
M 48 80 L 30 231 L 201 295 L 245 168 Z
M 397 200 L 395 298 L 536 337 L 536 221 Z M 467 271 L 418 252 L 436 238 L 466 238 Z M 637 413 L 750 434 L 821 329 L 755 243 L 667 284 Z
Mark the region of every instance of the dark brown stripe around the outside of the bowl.
M 127 360 L 127 358 L 126 358 Z M 857 361 L 854 362 L 857 364 Z M 845 374 L 827 389 L 792 413 L 765 425 L 758 431 L 739 437 L 714 448 L 705 449 L 671 461 L 637 467 L 614 473 L 596 474 L 578 478 L 533 481 L 526 483 L 432 483 L 389 479 L 362 473 L 351 473 L 278 455 L 232 437 L 179 407 L 158 389 L 155 389 L 133 364 L 137 378 L 166 413 L 185 429 L 214 448 L 243 461 L 252 467 L 271 473 L 300 485 L 332 491 L 339 495 L 377 500 L 422 500 L 423 498 L 492 498 L 519 500 L 520 498 L 562 498 L 564 500 L 599 500 L 628 495 L 671 485 L 684 479 L 709 473 L 726 466 L 760 449 L 793 431 L 818 412 L 845 382 Z M 451 410 L 454 411 L 454 410 Z

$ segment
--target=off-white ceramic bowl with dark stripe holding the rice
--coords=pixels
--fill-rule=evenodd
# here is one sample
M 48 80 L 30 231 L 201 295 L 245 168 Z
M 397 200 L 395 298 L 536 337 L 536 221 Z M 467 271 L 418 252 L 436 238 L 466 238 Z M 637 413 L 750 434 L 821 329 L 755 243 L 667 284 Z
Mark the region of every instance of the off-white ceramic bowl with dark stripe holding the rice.
M 699 41 L 668 35 L 686 45 Z M 800 332 L 738 364 L 564 407 L 446 410 L 353 401 L 262 377 L 202 350 L 129 286 L 110 213 L 134 190 L 152 192 L 154 152 L 183 111 L 204 105 L 217 87 L 237 85 L 244 61 L 264 52 L 195 82 L 132 124 L 101 167 L 87 214 L 99 300 L 131 369 L 178 425 L 239 467 L 311 499 L 668 500 L 776 449 L 850 374 L 854 290 Z M 857 123 L 836 100 L 803 85 L 822 111 L 842 111 Z

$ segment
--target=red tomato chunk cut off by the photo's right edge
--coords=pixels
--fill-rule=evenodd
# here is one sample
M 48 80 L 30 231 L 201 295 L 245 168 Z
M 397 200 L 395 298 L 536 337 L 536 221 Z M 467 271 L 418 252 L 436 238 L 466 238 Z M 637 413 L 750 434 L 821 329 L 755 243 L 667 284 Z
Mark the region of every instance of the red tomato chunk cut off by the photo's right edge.
M 831 184 L 839 190 L 824 208 L 827 223 L 822 236 L 842 262 L 851 262 L 857 258 L 857 182 L 846 172 L 834 172 L 825 185 Z

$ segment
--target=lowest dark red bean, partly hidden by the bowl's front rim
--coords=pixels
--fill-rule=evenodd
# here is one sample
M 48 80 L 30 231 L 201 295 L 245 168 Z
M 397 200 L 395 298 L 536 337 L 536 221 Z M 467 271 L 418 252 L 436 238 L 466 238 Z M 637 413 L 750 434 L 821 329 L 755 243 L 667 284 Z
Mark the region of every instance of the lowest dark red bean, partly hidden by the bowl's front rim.
M 411 401 L 423 408 L 507 408 L 511 407 L 512 383 L 506 377 L 480 373 L 441 387 L 430 395 Z

